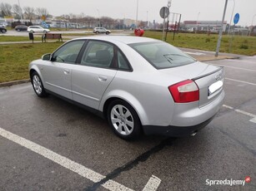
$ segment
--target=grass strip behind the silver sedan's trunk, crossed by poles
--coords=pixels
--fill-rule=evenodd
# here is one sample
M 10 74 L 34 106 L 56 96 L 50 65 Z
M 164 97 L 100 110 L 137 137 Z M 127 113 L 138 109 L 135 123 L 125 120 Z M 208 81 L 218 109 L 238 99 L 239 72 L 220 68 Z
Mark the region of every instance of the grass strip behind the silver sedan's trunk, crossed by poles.
M 152 37 L 162 40 L 163 32 L 144 32 L 143 37 Z M 256 55 L 256 37 L 234 36 L 232 46 L 229 48 L 231 36 L 223 35 L 220 46 L 220 52 L 253 56 Z M 204 51 L 215 51 L 218 34 L 194 34 L 194 33 L 176 33 L 173 40 L 173 32 L 168 33 L 167 42 L 175 47 L 193 48 Z M 230 51 L 229 51 L 230 50 Z

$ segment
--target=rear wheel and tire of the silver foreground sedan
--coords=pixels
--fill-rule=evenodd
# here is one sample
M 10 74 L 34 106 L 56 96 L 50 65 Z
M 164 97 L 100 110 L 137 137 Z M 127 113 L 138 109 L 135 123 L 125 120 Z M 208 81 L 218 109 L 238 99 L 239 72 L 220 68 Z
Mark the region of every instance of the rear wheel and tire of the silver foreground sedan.
M 113 100 L 108 105 L 108 124 L 123 140 L 134 140 L 141 133 L 141 122 L 136 111 L 124 100 Z

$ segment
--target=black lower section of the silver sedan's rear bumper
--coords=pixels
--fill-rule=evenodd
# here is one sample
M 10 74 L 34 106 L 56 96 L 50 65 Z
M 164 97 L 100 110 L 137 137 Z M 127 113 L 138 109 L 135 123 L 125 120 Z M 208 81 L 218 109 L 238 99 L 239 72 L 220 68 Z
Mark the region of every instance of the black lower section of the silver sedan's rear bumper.
M 145 135 L 165 135 L 172 137 L 183 137 L 197 133 L 198 130 L 202 130 L 203 127 L 208 125 L 213 120 L 214 116 L 204 121 L 201 124 L 178 127 L 178 126 L 156 126 L 156 125 L 143 125 Z

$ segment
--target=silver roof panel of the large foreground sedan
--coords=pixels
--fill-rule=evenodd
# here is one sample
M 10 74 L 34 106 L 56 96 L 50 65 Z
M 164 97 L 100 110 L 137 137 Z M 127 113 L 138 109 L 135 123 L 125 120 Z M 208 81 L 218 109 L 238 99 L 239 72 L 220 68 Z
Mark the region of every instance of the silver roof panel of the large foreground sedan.
M 134 36 L 92 36 L 92 37 L 82 37 L 76 39 L 92 39 L 92 40 L 101 40 L 107 42 L 122 42 L 124 44 L 133 44 L 141 42 L 161 42 L 159 40 L 148 38 L 148 37 L 134 37 Z M 75 40 L 75 39 L 73 39 Z

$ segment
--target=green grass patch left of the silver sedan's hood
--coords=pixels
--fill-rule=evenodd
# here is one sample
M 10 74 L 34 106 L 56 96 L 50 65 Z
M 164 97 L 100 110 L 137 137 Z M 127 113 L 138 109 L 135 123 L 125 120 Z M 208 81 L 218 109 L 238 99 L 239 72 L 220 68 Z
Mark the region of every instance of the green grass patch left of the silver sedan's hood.
M 28 64 L 63 42 L 0 45 L 0 83 L 28 79 Z

